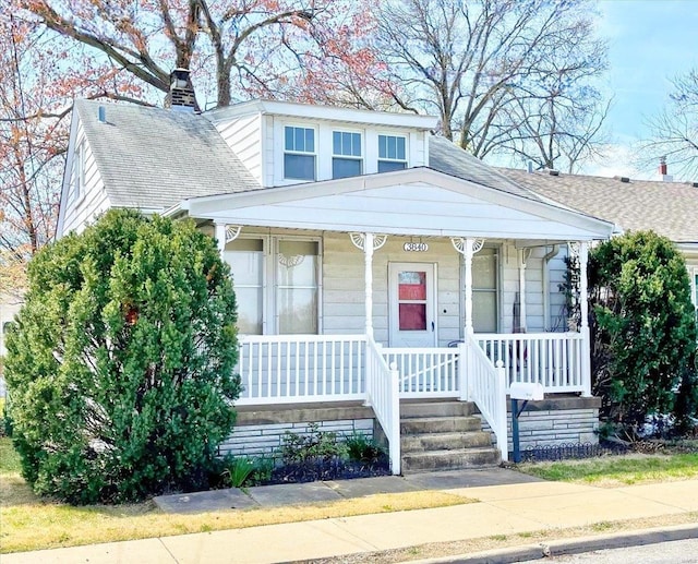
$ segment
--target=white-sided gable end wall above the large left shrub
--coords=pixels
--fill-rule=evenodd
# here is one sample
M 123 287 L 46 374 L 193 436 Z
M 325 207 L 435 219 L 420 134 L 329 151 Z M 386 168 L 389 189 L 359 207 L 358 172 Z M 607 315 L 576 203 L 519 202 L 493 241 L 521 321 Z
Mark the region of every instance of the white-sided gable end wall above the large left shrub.
M 82 124 L 77 124 L 77 132 L 74 140 L 74 146 L 77 147 L 81 143 L 84 143 L 85 133 L 83 131 Z M 85 184 L 83 188 L 82 194 L 80 194 L 79 199 L 74 202 L 70 202 L 65 204 L 65 216 L 63 219 L 63 230 L 58 233 L 58 236 L 62 236 L 64 233 L 69 233 L 70 231 L 81 232 L 85 229 L 85 227 L 92 224 L 95 220 L 95 217 L 107 209 L 109 209 L 110 204 L 107 199 L 107 193 L 104 189 L 104 184 L 101 182 L 101 178 L 99 176 L 99 170 L 97 169 L 97 164 L 95 163 L 95 158 L 89 149 L 89 146 L 85 143 Z M 69 166 L 72 166 L 69 163 Z M 68 170 L 68 169 L 67 169 Z M 61 196 L 62 201 L 65 201 L 68 197 L 69 185 L 70 182 L 70 173 L 67 175 L 67 183 L 63 187 L 63 194 Z

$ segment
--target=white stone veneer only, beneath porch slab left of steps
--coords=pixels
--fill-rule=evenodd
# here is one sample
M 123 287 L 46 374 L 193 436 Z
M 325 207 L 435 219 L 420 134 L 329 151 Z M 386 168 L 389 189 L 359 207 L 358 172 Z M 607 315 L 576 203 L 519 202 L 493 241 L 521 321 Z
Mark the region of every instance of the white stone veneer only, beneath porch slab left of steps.
M 373 437 L 373 419 L 345 419 L 339 421 L 301 421 L 236 427 L 232 434 L 218 447 L 218 454 L 233 456 L 272 457 L 284 444 L 287 432 L 310 434 L 310 424 L 318 431 L 337 433 L 338 437 L 361 433 Z

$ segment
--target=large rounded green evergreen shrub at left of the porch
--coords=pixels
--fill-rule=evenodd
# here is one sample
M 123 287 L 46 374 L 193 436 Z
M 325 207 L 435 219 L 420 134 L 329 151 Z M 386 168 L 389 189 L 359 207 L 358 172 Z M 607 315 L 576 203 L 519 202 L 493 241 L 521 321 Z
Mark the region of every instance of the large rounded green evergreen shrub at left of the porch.
M 23 475 L 71 503 L 206 481 L 240 389 L 236 301 L 193 224 L 111 211 L 40 250 L 7 339 Z

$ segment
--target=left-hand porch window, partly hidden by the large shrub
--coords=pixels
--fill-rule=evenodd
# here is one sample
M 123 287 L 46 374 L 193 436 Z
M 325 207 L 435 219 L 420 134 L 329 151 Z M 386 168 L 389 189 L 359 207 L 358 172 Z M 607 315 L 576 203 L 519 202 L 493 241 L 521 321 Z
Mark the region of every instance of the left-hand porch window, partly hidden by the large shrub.
M 264 241 L 236 239 L 226 245 L 238 304 L 238 332 L 262 335 L 264 303 Z

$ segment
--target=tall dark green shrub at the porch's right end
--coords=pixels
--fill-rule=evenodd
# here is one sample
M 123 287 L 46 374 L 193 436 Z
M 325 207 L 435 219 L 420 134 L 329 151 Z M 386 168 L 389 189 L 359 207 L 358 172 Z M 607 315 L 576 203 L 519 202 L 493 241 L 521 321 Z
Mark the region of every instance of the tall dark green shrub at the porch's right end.
M 606 418 L 633 431 L 648 415 L 686 417 L 693 395 L 696 323 L 685 262 L 652 231 L 616 237 L 589 260 L 594 393 Z

